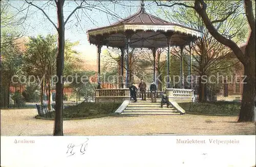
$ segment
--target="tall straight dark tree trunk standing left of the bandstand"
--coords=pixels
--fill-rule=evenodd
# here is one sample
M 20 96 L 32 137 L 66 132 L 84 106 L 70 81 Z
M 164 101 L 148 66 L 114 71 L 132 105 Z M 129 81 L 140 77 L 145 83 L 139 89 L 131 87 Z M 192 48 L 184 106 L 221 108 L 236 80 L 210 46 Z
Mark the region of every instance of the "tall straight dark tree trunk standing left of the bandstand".
M 57 15 L 58 15 L 58 55 L 56 73 L 58 82 L 56 83 L 56 109 L 54 122 L 54 136 L 63 136 L 63 68 L 64 68 L 64 51 L 65 51 L 65 22 L 63 18 L 63 0 L 57 1 Z

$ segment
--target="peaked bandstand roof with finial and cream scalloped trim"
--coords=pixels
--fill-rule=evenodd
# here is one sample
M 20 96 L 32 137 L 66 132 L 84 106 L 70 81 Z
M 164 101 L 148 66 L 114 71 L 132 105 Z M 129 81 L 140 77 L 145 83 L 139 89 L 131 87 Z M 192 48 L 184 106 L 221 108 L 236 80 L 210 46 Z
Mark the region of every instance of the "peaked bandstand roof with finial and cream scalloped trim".
M 88 30 L 88 40 L 92 44 L 125 47 L 127 35 L 131 37 L 131 47 L 166 47 L 166 34 L 173 34 L 171 45 L 186 45 L 191 40 L 202 37 L 202 32 L 172 23 L 146 13 L 144 2 L 134 15 L 113 23 L 111 26 Z

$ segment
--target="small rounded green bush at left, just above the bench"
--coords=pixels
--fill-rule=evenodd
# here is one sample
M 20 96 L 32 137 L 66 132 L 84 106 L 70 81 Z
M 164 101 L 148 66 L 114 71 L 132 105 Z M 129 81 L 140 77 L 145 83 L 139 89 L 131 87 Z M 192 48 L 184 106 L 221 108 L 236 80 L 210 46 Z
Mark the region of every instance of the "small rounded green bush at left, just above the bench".
M 40 99 L 38 86 L 35 84 L 26 86 L 26 90 L 22 92 L 22 95 L 26 102 L 38 102 Z

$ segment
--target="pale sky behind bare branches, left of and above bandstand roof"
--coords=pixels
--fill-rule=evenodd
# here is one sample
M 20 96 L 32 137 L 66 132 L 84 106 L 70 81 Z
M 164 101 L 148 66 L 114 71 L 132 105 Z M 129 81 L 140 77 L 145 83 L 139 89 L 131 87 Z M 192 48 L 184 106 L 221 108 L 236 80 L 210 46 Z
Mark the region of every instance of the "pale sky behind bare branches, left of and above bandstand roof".
M 54 1 L 48 3 L 48 1 L 29 1 L 33 4 L 44 9 L 49 18 L 57 25 L 57 11 Z M 79 3 L 80 1 L 76 1 Z M 87 39 L 87 31 L 90 29 L 109 26 L 121 18 L 128 17 L 136 13 L 140 9 L 141 1 L 117 1 L 117 3 L 111 3 L 109 1 L 87 1 L 89 5 L 96 6 L 97 9 L 84 9 L 77 10 L 77 13 L 73 14 L 66 24 L 65 38 L 71 41 L 79 41 L 79 45 L 74 49 L 81 52 L 82 57 L 86 57 L 88 60 L 96 60 L 97 50 L 95 45 L 90 45 Z M 154 2 L 145 1 L 146 12 L 153 15 L 158 15 L 157 10 L 159 8 Z M 17 13 L 16 9 L 25 9 L 28 4 L 25 1 L 11 1 L 12 10 Z M 65 20 L 68 15 L 78 5 L 74 1 L 65 1 L 64 15 Z M 16 9 L 15 9 L 16 8 Z M 106 14 L 106 12 L 111 14 Z M 27 14 L 28 13 L 28 14 Z M 34 6 L 30 6 L 23 12 L 19 12 L 17 17 L 25 18 L 23 24 L 26 30 L 26 36 L 37 36 L 57 33 L 52 23 L 47 17 Z M 78 19 L 77 19 L 78 18 Z M 79 20 L 79 21 L 78 21 Z M 103 48 L 104 49 L 104 48 Z

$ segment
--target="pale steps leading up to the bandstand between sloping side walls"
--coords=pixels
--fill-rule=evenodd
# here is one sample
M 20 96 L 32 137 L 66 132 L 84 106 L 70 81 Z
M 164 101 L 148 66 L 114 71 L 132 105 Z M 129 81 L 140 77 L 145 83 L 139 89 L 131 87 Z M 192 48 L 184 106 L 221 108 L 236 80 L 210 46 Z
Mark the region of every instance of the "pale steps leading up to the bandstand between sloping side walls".
M 175 108 L 172 105 L 169 105 L 167 108 L 166 105 L 163 105 L 161 108 L 161 100 L 157 99 L 156 103 L 152 103 L 151 99 L 147 101 L 138 100 L 136 103 L 130 102 L 130 104 L 121 112 L 122 115 L 179 115 Z

